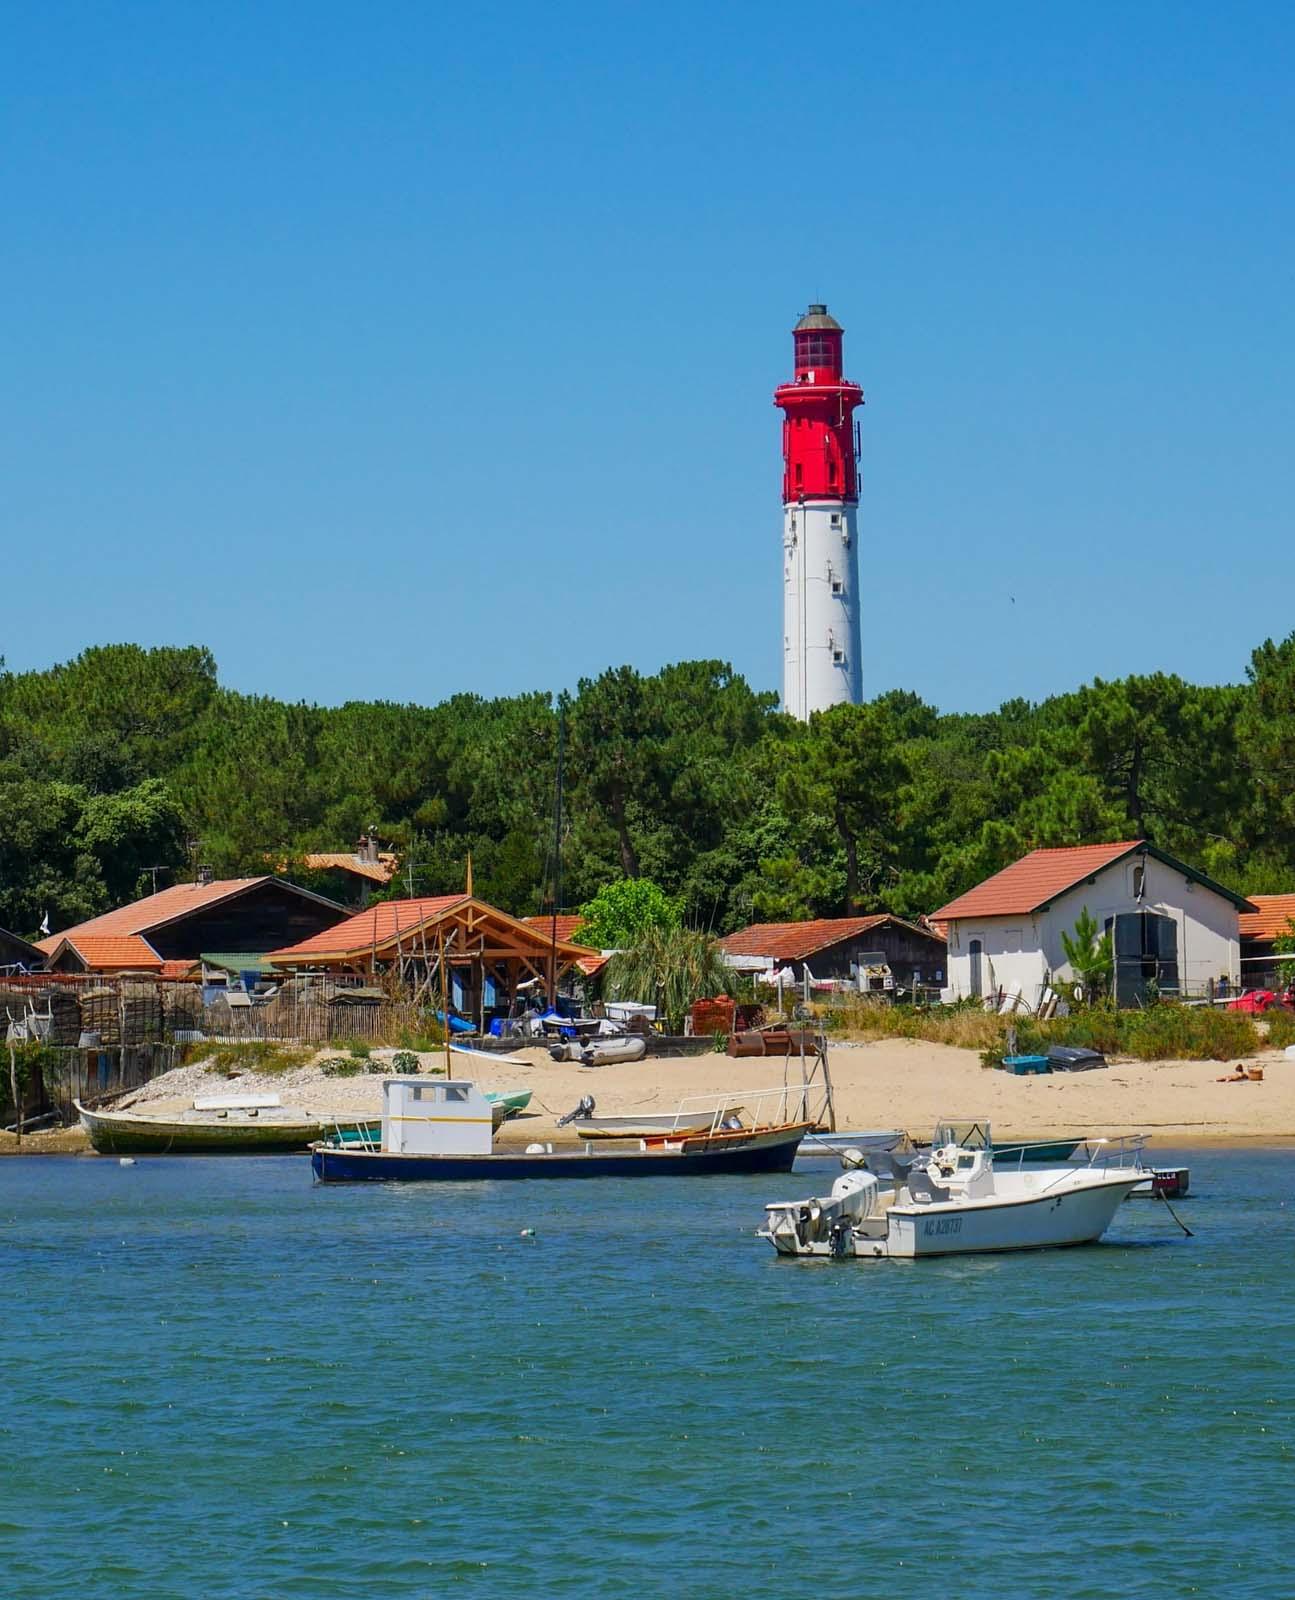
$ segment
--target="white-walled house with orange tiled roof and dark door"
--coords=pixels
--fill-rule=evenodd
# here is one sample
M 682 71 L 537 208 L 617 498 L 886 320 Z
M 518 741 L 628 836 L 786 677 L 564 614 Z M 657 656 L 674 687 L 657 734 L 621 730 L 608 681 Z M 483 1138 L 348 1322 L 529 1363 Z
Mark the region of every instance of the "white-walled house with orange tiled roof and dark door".
M 1084 909 L 1114 942 L 1121 1005 L 1149 992 L 1205 995 L 1241 979 L 1244 896 L 1143 838 L 1032 850 L 941 906 L 952 998 L 1018 994 L 1026 1010 L 1074 973 L 1061 944 Z

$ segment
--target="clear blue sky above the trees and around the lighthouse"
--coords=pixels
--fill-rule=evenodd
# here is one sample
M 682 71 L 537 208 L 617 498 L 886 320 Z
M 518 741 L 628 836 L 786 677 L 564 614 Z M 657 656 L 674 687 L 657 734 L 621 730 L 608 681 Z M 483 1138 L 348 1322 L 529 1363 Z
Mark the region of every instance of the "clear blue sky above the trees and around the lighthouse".
M 1287 5 L 42 0 L 3 37 L 13 669 L 776 688 L 810 299 L 868 395 L 869 694 L 1239 680 L 1295 626 Z

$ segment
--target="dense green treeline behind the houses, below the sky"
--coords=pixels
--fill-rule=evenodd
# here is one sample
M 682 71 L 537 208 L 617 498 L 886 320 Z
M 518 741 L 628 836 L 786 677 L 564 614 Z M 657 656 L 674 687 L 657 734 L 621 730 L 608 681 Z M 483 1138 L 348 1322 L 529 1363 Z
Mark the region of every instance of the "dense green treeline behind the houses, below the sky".
M 621 875 L 685 920 L 928 912 L 1036 845 L 1148 837 L 1242 891 L 1295 886 L 1295 635 L 1247 683 L 1154 674 L 946 715 L 892 691 L 802 726 L 717 661 L 584 680 L 565 712 L 562 902 Z M 235 694 L 210 651 L 0 672 L 0 926 L 32 936 L 197 861 L 264 872 L 376 829 L 394 893 L 538 910 L 552 696 L 439 706 Z M 301 878 L 301 874 L 293 874 Z

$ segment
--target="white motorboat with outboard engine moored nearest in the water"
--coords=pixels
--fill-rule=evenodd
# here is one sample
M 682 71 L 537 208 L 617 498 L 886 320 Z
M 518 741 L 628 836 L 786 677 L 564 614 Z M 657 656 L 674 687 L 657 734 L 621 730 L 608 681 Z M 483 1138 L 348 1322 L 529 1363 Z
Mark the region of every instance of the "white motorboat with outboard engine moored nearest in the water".
M 850 1152 L 829 1195 L 765 1206 L 767 1238 L 781 1256 L 879 1259 L 1045 1250 L 1101 1238 L 1116 1210 L 1146 1179 L 1143 1138 L 1090 1139 L 1082 1165 L 994 1168 L 989 1125 L 980 1144 L 940 1123 L 928 1155 Z

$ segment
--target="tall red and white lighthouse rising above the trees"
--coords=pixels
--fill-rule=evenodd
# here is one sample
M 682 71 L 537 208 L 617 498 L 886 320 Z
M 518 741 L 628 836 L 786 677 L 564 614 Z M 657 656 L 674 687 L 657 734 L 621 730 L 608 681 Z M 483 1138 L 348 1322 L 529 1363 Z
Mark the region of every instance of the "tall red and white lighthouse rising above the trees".
M 797 322 L 783 411 L 783 710 L 863 699 L 858 595 L 858 422 L 863 390 L 842 376 L 842 326 L 826 306 Z

